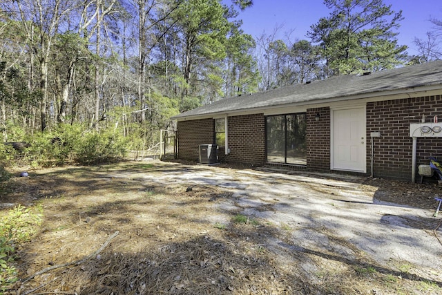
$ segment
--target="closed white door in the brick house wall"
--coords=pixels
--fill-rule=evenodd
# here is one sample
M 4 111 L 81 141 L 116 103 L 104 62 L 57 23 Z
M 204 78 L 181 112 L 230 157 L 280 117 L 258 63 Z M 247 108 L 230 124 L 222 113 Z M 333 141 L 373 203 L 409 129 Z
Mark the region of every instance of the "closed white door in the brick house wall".
M 332 169 L 366 172 L 365 108 L 332 111 Z

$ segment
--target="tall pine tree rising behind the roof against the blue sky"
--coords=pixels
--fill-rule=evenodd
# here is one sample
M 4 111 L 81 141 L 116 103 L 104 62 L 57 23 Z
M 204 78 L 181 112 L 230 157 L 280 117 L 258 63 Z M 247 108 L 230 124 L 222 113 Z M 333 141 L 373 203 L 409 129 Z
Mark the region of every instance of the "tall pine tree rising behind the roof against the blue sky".
M 402 11 L 383 0 L 325 0 L 332 10 L 311 26 L 308 36 L 320 44 L 329 75 L 394 68 L 403 64 L 407 46 L 396 36 Z

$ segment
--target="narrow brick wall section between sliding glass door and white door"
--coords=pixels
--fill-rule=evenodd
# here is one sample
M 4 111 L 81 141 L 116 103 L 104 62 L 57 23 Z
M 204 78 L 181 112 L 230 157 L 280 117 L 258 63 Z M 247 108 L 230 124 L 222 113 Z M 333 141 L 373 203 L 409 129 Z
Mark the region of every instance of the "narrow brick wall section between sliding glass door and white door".
M 316 114 L 320 115 L 318 121 Z M 307 109 L 307 169 L 330 171 L 330 108 Z

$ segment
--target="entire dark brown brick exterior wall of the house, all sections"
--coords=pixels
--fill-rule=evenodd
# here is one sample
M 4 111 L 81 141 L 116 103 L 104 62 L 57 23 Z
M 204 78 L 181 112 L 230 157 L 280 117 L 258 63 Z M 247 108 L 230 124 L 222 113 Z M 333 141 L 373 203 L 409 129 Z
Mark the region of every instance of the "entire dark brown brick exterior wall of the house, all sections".
M 315 120 L 316 114 L 320 119 Z M 410 123 L 426 122 L 434 115 L 442 121 L 442 96 L 394 99 L 367 104 L 367 174 L 371 173 L 370 132 L 380 131 L 374 138 L 375 177 L 411 180 L 412 138 Z M 227 162 L 265 164 L 265 117 L 263 114 L 229 117 L 229 155 Z M 307 109 L 307 169 L 330 169 L 330 108 Z M 181 121 L 177 125 L 178 158 L 198 160 L 199 145 L 214 143 L 214 120 Z M 224 151 L 220 151 L 222 155 Z M 222 155 L 224 156 L 224 155 Z M 429 158 L 442 161 L 442 138 L 418 138 L 416 167 L 428 164 Z M 416 177 L 419 175 L 416 172 Z

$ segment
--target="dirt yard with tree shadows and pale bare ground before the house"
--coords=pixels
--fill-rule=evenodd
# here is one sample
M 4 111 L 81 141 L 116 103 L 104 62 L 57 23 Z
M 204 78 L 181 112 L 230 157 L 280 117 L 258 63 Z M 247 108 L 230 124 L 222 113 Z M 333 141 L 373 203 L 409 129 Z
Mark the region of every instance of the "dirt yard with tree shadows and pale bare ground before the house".
M 442 294 L 434 184 L 156 160 L 28 172 L 0 213 L 40 204 L 44 223 L 9 294 Z

